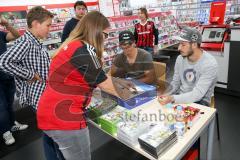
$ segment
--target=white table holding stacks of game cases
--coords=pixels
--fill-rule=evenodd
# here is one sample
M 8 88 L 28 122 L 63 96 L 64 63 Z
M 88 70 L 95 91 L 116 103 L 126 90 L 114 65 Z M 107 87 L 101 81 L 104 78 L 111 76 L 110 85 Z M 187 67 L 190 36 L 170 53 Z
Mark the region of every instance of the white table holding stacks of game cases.
M 213 136 L 214 136 L 214 123 L 215 123 L 215 113 L 216 109 L 209 108 L 206 106 L 198 105 L 198 104 L 190 104 L 190 106 L 193 106 L 195 108 L 199 108 L 200 112 L 204 112 L 204 114 L 200 114 L 199 119 L 194 123 L 193 127 L 190 128 L 182 138 L 179 138 L 176 143 L 174 143 L 171 147 L 169 147 L 165 152 L 163 152 L 158 159 L 159 160 L 178 160 L 181 159 L 186 152 L 191 148 L 191 146 L 196 142 L 196 140 L 201 136 L 202 132 L 208 128 L 208 146 L 207 146 L 207 160 L 212 159 L 212 147 L 213 147 Z M 163 107 L 158 103 L 157 99 L 154 99 L 148 103 L 145 103 L 144 105 L 141 105 L 137 108 L 134 108 L 131 110 L 131 112 L 138 115 L 143 114 L 156 114 L 159 115 L 159 109 L 163 109 Z M 141 116 L 140 116 L 141 117 Z M 153 118 L 155 120 L 155 118 Z M 157 118 L 158 120 L 159 118 Z M 101 129 L 99 125 L 94 123 L 90 120 L 90 122 L 96 126 L 97 128 Z M 102 129 L 101 129 L 102 130 Z M 104 130 L 102 130 L 104 131 Z M 104 131 L 105 132 L 105 131 Z M 107 132 L 105 132 L 107 133 Z M 108 133 L 107 133 L 108 134 Z M 109 134 L 110 135 L 110 134 Z M 143 156 L 156 160 L 153 156 L 148 154 L 146 151 L 144 151 L 140 145 L 129 145 L 125 143 L 124 141 L 121 141 L 117 138 L 116 135 L 110 135 L 116 140 L 122 142 L 129 148 L 132 148 L 136 152 L 142 154 Z

